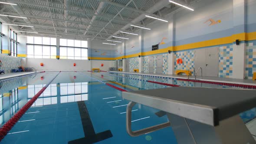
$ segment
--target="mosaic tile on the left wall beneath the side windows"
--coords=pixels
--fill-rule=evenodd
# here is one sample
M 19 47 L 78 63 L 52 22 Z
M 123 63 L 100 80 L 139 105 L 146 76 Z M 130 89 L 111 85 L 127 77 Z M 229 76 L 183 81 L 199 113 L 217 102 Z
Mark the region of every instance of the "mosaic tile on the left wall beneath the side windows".
M 19 57 L 0 54 L 0 60 L 3 64 L 0 69 L 4 69 L 6 73 L 11 72 L 12 69 L 18 69 L 21 66 L 21 59 Z

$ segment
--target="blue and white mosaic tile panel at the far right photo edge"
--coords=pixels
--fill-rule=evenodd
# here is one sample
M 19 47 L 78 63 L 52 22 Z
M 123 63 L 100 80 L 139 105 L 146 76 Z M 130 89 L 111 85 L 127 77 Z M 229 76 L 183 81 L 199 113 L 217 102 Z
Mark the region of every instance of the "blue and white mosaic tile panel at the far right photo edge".
M 256 72 L 256 45 L 246 43 L 245 76 L 248 79 L 253 79 L 253 72 Z

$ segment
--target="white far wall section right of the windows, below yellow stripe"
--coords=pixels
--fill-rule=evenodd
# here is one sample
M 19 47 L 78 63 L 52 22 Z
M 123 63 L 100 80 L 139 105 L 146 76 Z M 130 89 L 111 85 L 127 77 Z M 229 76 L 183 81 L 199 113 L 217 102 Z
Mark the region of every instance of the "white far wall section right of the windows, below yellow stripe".
M 92 68 L 99 68 L 100 70 L 108 70 L 110 67 L 114 67 L 115 61 L 107 60 L 90 60 Z M 103 66 L 101 66 L 103 64 Z

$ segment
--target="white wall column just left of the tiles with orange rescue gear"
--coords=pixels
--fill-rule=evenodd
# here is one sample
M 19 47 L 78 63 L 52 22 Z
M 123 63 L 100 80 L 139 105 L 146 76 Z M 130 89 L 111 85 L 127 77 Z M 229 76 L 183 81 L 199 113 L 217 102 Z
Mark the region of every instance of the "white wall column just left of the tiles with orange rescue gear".
M 174 15 L 172 14 L 169 17 L 169 23 L 168 23 L 168 40 L 171 41 L 171 53 L 168 53 L 168 73 L 170 75 L 173 75 L 174 72 L 174 51 L 173 46 L 175 45 L 175 23 L 174 23 Z

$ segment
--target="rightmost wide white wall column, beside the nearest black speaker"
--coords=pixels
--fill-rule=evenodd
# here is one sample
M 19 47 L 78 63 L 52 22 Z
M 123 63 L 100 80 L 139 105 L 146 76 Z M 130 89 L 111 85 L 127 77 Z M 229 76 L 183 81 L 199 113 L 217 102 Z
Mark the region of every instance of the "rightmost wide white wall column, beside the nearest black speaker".
M 246 7 L 245 0 L 233 0 L 233 29 L 234 34 L 246 32 Z M 241 17 L 241 18 L 237 18 Z M 240 37 L 234 35 L 233 42 Z M 246 67 L 246 44 L 240 42 L 239 45 L 233 43 L 233 76 L 234 79 L 243 79 L 245 77 Z

